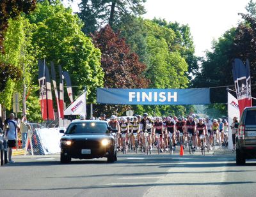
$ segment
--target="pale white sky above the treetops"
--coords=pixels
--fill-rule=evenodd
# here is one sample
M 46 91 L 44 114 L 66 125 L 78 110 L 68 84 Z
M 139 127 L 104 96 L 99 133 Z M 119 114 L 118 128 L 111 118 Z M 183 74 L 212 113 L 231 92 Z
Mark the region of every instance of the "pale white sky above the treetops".
M 77 0 L 79 1 L 79 0 Z M 195 45 L 195 55 L 211 51 L 212 40 L 241 21 L 238 13 L 246 13 L 250 0 L 147 0 L 143 18 L 164 18 L 167 22 L 188 24 Z M 76 3 L 73 11 L 78 11 Z

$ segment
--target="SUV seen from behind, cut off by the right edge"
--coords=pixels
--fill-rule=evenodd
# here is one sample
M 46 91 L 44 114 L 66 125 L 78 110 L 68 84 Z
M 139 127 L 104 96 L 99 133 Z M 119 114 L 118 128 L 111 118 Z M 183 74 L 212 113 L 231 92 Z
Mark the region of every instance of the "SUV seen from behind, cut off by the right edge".
M 236 164 L 256 158 L 256 107 L 244 108 L 236 137 Z

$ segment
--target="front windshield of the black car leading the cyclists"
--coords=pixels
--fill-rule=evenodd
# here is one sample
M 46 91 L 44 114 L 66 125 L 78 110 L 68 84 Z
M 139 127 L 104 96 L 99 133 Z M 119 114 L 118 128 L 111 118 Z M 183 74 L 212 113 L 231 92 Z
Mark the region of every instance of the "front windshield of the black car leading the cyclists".
M 67 134 L 76 133 L 107 133 L 108 126 L 106 122 L 76 122 L 68 126 Z

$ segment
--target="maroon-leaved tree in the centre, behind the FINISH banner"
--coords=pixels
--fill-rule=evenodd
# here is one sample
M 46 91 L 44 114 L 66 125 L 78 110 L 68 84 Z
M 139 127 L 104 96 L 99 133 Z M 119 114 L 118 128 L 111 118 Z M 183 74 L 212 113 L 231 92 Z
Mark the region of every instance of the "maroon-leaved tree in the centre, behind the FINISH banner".
M 114 33 L 109 25 L 96 32 L 93 35 L 93 41 L 102 53 L 101 66 L 105 73 L 104 87 L 147 87 L 148 82 L 143 77 L 145 64 L 139 61 L 138 55 L 130 51 L 124 38 L 119 38 L 119 34 Z M 97 109 L 98 113 L 122 113 L 124 111 L 125 108 L 117 105 L 99 105 Z

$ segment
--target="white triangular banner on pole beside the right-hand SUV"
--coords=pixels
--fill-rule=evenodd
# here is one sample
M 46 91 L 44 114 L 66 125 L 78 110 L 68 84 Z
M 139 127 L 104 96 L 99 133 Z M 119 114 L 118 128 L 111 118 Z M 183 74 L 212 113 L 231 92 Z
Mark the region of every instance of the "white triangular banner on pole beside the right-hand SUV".
M 232 129 L 230 128 L 233 118 L 240 117 L 237 99 L 228 92 L 228 149 L 233 149 Z

